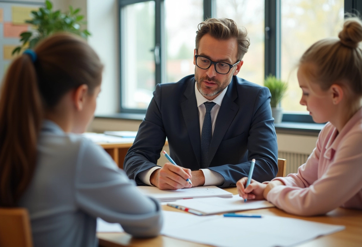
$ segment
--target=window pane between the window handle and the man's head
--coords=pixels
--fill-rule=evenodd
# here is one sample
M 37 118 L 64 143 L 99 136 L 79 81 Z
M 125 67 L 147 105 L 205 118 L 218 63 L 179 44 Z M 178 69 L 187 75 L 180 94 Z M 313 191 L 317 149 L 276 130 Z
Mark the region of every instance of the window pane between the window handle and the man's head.
M 195 73 L 193 55 L 197 25 L 203 18 L 203 0 L 165 0 L 167 45 L 166 82 Z

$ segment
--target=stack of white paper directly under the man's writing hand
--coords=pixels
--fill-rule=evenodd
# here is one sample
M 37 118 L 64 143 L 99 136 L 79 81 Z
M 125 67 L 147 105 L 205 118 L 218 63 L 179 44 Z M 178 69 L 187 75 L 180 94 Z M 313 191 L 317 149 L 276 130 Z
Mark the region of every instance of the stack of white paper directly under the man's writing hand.
M 232 193 L 227 192 L 216 186 L 200 186 L 183 188 L 178 190 L 160 190 L 155 186 L 137 186 L 136 187 L 142 194 L 152 196 L 159 200 L 159 202 L 170 202 L 178 199 L 189 198 L 205 198 L 205 197 L 232 197 Z

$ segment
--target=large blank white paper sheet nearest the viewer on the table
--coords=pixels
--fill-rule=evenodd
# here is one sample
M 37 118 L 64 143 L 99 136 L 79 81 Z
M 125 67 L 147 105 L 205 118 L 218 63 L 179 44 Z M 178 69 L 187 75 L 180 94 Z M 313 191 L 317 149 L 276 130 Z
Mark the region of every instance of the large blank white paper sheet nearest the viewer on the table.
M 166 225 L 162 234 L 217 247 L 288 247 L 345 228 L 341 225 L 271 215 L 262 215 L 261 218 L 234 218 L 185 213 L 178 213 L 180 216 L 177 216 L 175 213 L 177 212 L 164 214 L 165 221 L 173 222 L 173 227 Z M 205 220 L 202 220 L 204 218 Z

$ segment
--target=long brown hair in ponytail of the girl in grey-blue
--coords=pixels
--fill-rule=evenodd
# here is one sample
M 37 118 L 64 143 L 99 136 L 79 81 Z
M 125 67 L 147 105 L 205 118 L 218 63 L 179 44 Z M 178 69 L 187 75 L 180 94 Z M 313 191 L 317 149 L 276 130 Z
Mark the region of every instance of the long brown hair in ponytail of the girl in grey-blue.
M 17 57 L 9 66 L 0 95 L 0 206 L 16 206 L 31 181 L 37 141 L 46 110 L 81 84 L 89 94 L 101 82 L 103 66 L 78 37 L 56 34 L 35 48 L 37 60 Z

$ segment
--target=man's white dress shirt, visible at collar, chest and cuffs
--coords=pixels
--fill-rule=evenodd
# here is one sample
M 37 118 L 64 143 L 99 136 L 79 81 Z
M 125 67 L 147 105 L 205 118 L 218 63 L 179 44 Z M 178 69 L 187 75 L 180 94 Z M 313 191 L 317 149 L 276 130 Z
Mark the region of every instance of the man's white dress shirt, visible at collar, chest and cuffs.
M 224 98 L 224 96 L 226 94 L 226 90 L 227 90 L 227 87 L 218 96 L 216 96 L 215 99 L 208 100 L 204 96 L 202 96 L 202 94 L 197 89 L 197 85 L 195 83 L 195 95 L 196 95 L 197 107 L 198 107 L 198 110 L 199 110 L 200 138 L 201 138 L 202 125 L 203 125 L 203 121 L 204 121 L 205 113 L 206 113 L 206 108 L 205 108 L 205 105 L 203 103 L 205 103 L 205 102 L 214 102 L 214 103 L 216 103 L 216 105 L 211 109 L 211 112 L 210 112 L 210 114 L 211 114 L 211 124 L 212 124 L 212 134 L 214 134 L 216 117 L 218 116 L 221 103 L 222 103 L 223 98 Z M 145 170 L 143 172 L 140 172 L 138 174 L 139 178 L 141 179 L 141 181 L 143 183 L 146 183 L 146 185 L 151 185 L 151 182 L 150 182 L 151 174 L 153 173 L 153 171 L 155 171 L 157 169 L 160 169 L 160 168 L 161 168 L 161 166 L 153 166 L 150 169 L 147 169 L 147 170 Z M 224 182 L 224 177 L 220 173 L 214 172 L 214 171 L 212 171 L 210 169 L 200 169 L 200 170 L 202 170 L 202 172 L 204 174 L 204 177 L 205 177 L 204 186 L 221 185 Z

